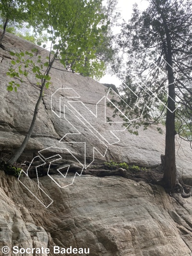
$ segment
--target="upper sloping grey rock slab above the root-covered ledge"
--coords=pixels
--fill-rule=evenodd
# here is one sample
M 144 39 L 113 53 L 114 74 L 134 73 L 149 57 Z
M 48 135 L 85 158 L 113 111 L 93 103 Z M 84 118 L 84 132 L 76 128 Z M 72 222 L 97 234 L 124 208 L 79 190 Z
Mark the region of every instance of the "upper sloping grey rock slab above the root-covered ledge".
M 3 152 L 6 152 L 14 151 L 22 143 L 24 134 L 28 131 L 31 123 L 39 93 L 33 74 L 29 75 L 28 80 L 30 82 L 25 81 L 17 93 L 6 90 L 10 81 L 6 72 L 10 67 L 10 61 L 14 58 L 14 56 L 10 56 L 9 51 L 20 52 L 20 50 L 25 51 L 37 48 L 39 51 L 41 50 L 42 58 L 45 58 L 48 52 L 9 33 L 4 37 L 2 45 L 3 49 L 0 48 L 0 148 Z M 122 129 L 121 125 L 110 126 L 105 122 L 105 102 L 102 98 L 107 95 L 106 86 L 97 83 L 91 78 L 69 73 L 59 63 L 55 64 L 50 75 L 52 84 L 45 91 L 36 127 L 21 158 L 22 161 L 26 159 L 32 160 L 38 150 L 54 146 L 70 150 L 83 163 L 84 144 L 79 142 L 86 142 L 87 165 L 93 161 L 94 146 L 100 152 L 99 154 L 95 150 L 95 161 L 113 159 L 144 167 L 155 167 L 160 164 L 160 155 L 164 153 L 165 149 L 164 127 L 162 127 L 164 131 L 162 135 L 153 126 L 146 131 L 141 129 L 139 136 L 129 134 L 127 131 L 114 132 L 119 138 L 118 140 L 111 134 L 110 130 L 120 130 Z M 51 111 L 52 95 L 52 110 L 55 113 Z M 69 103 L 68 101 L 72 102 Z M 96 103 L 98 101 L 100 102 L 97 106 L 97 118 L 95 118 L 93 113 L 96 114 Z M 63 116 L 64 105 L 66 105 L 65 118 Z M 93 113 L 89 110 L 93 111 Z M 113 111 L 107 108 L 106 116 L 111 118 L 112 113 Z M 58 117 L 59 115 L 60 117 Z M 91 126 L 84 121 L 83 117 L 88 120 Z M 117 122 L 117 120 L 113 120 L 113 122 Z M 77 130 L 80 134 L 69 134 L 77 133 Z M 72 143 L 59 143 L 65 134 L 68 135 L 65 136 L 62 142 Z M 182 172 L 186 178 L 191 178 L 192 151 L 190 145 L 185 142 L 180 144 L 179 140 L 176 144 L 178 171 Z M 106 150 L 107 153 L 105 155 Z M 63 154 L 62 150 L 57 149 L 55 151 L 67 158 L 68 151 Z M 105 157 L 103 157 L 104 155 Z

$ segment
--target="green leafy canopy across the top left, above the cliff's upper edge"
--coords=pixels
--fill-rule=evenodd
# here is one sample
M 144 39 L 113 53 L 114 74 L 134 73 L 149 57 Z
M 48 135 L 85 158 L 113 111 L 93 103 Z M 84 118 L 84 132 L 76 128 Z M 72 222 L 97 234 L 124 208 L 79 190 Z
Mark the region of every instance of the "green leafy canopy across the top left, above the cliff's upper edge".
M 105 43 L 110 22 L 102 0 L 0 0 L 0 17 L 17 27 L 25 23 L 35 35 L 46 31 L 50 51 L 57 53 L 64 67 L 70 65 L 74 72 L 96 79 L 103 75 L 105 64 L 96 53 Z M 21 36 L 20 32 L 14 34 Z M 24 38 L 37 42 L 29 31 L 25 34 Z

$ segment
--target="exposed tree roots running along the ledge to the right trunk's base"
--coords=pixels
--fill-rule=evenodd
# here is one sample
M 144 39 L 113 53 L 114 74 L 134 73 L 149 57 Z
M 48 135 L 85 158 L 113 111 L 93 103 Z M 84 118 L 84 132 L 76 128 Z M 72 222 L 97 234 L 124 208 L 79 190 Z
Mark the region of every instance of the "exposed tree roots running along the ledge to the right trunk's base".
M 128 171 L 122 168 L 119 168 L 117 170 L 106 170 L 106 169 L 90 169 L 90 170 L 84 170 L 82 172 L 83 175 L 92 175 L 96 177 L 106 177 L 106 176 L 121 176 L 127 179 L 134 180 L 136 182 L 138 181 L 145 181 L 146 183 L 156 184 L 164 187 L 165 191 L 172 196 L 172 193 L 180 193 L 180 195 L 183 198 L 188 198 L 192 196 L 192 186 L 186 185 L 183 183 L 182 179 L 178 177 L 176 186 L 173 189 L 168 188 L 166 181 L 163 178 L 163 170 L 164 170 L 164 157 L 161 155 L 161 165 L 157 167 L 156 169 L 148 169 L 147 171 Z M 4 164 L 3 164 L 4 163 Z M 22 168 L 24 171 L 28 169 L 29 162 L 25 162 L 25 164 L 17 164 L 15 165 L 18 168 Z M 0 169 L 4 170 L 5 162 L 0 159 Z M 48 170 L 49 162 L 42 166 L 42 168 L 39 168 L 38 175 L 39 177 L 46 176 L 47 170 Z M 58 174 L 57 168 L 58 164 L 53 165 L 52 168 L 49 170 L 49 174 Z M 102 166 L 101 166 L 102 168 Z M 36 178 L 36 168 L 35 166 L 31 167 L 31 177 Z M 76 171 L 81 172 L 81 168 L 79 166 L 76 166 L 75 164 L 71 164 L 71 168 L 69 172 L 76 173 Z

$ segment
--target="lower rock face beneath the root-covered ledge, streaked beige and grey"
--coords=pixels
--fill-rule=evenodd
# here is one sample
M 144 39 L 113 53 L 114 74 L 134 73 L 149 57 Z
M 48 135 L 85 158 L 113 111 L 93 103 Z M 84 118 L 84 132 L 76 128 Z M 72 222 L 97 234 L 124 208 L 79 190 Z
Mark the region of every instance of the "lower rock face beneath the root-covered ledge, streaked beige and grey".
M 48 176 L 39 181 L 53 199 L 48 208 L 0 171 L 0 247 L 48 247 L 50 256 L 54 246 L 89 248 L 84 256 L 192 255 L 191 198 L 117 176 L 82 175 L 63 189 Z

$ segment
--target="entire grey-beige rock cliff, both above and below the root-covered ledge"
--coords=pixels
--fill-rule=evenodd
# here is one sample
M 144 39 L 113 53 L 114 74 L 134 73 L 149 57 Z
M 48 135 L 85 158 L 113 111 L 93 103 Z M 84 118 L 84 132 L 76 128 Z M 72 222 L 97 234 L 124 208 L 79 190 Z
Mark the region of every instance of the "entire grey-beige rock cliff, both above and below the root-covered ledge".
M 2 30 L 0 31 L 2 33 Z M 9 51 L 25 51 L 41 48 L 6 33 L 0 47 L 0 150 L 1 156 L 14 151 L 24 139 L 33 117 L 33 110 L 39 94 L 39 88 L 33 74 L 29 75 L 18 92 L 8 92 L 9 78 L 6 75 L 12 58 Z M 41 51 L 42 59 L 48 52 Z M 106 86 L 91 78 L 72 74 L 56 63 L 51 73 L 50 88 L 45 90 L 36 127 L 20 161 L 31 161 L 38 150 L 49 146 L 60 147 L 60 139 L 67 133 L 80 131 L 84 142 L 96 146 L 100 151 L 105 145 L 100 140 L 87 139 L 87 128 L 82 125 L 80 116 L 74 118 L 66 110 L 63 118 L 51 111 L 51 95 L 59 88 L 72 88 L 71 101 L 81 100 L 87 108 L 96 113 L 96 103 L 103 98 Z M 68 104 L 69 98 L 59 90 L 54 98 L 53 109 L 58 114 L 61 107 Z M 69 96 L 69 95 L 68 95 Z M 76 103 L 74 103 L 76 104 Z M 68 104 L 69 105 L 69 104 Z M 73 105 L 75 106 L 75 105 Z M 68 106 L 72 110 L 71 106 Z M 79 108 L 80 109 L 80 108 Z M 98 107 L 104 110 L 104 101 Z M 96 127 L 100 134 L 105 134 L 107 124 L 98 118 Z M 74 111 L 73 111 L 74 112 Z M 107 115 L 111 117 L 112 110 Z M 84 115 L 86 112 L 84 111 Z M 93 117 L 92 117 L 93 118 Z M 91 120 L 91 122 L 94 121 Z M 142 129 L 139 136 L 126 131 L 115 133 L 120 142 L 109 145 L 103 158 L 95 154 L 98 163 L 113 159 L 118 162 L 137 164 L 154 168 L 160 164 L 160 155 L 164 153 L 164 134 L 159 134 L 156 127 Z M 76 134 L 77 135 L 77 134 Z M 108 134 L 110 139 L 110 131 Z M 75 142 L 77 136 L 67 137 L 65 142 Z M 73 141 L 72 141 L 73 139 Z M 114 138 L 113 138 L 114 139 Z M 177 144 L 177 169 L 188 184 L 192 184 L 192 165 L 190 145 L 185 142 Z M 82 145 L 68 143 L 68 148 L 79 160 L 84 158 Z M 68 151 L 62 154 L 70 158 Z M 93 152 L 88 150 L 87 159 L 93 160 Z M 61 175 L 51 175 L 56 181 Z M 66 179 L 70 179 L 66 177 Z M 54 255 L 54 246 L 60 248 L 89 248 L 89 254 L 58 254 L 84 256 L 192 256 L 192 198 L 183 199 L 178 194 L 170 197 L 161 186 L 149 185 L 143 181 L 135 182 L 119 176 L 94 177 L 82 175 L 75 178 L 71 186 L 60 188 L 49 176 L 39 178 L 40 188 L 53 200 L 48 207 L 42 204 L 14 176 L 0 171 L 0 256 L 1 247 L 12 248 L 49 248 Z M 36 191 L 40 200 L 42 193 L 36 179 L 28 180 L 28 186 Z M 8 256 L 14 255 L 8 253 Z M 17 254 L 25 255 L 25 254 Z M 30 256 L 36 255 L 28 254 Z M 38 254 L 46 255 L 46 254 Z

